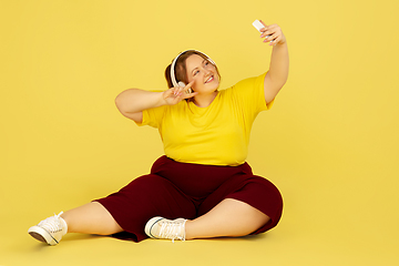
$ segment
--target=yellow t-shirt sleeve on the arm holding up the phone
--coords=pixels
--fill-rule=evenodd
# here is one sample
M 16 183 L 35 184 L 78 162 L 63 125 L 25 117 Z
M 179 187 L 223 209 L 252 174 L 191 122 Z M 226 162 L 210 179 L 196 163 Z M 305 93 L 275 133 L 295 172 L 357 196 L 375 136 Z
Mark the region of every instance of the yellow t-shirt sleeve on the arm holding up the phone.
M 269 110 L 274 103 L 273 100 L 266 104 L 264 89 L 266 73 L 259 76 L 245 79 L 233 86 L 238 101 L 243 104 L 245 110 L 255 115 L 260 111 Z

